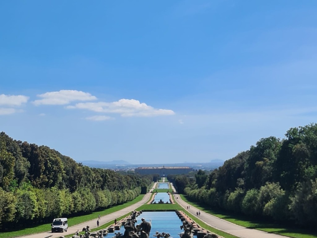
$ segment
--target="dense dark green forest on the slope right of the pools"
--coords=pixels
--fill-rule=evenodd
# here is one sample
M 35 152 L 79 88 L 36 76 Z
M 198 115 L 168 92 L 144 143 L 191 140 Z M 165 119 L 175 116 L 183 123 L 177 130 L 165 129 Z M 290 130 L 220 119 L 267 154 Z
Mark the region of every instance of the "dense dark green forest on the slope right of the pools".
M 211 172 L 169 176 L 179 193 L 213 208 L 316 229 L 317 125 L 263 138 Z

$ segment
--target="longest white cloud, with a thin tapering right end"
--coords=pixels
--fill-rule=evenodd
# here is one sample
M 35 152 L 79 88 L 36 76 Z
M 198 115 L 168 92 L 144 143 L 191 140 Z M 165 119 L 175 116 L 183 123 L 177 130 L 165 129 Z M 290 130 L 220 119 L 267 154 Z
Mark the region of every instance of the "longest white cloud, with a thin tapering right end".
M 121 116 L 162 116 L 174 115 L 169 109 L 155 109 L 135 99 L 120 99 L 116 102 L 85 102 L 68 106 L 70 109 L 86 109 L 94 112 L 117 113 Z

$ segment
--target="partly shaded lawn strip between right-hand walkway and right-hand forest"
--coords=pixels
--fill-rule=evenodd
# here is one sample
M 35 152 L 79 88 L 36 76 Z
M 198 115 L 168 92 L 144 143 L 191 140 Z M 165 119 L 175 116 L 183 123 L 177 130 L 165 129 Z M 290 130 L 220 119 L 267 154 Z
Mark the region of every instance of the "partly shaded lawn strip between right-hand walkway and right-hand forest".
M 294 227 L 287 227 L 286 225 L 281 225 L 281 224 L 273 224 L 264 220 L 262 221 L 262 220 L 252 219 L 252 217 L 248 217 L 248 216 L 237 215 L 227 211 L 212 209 L 208 206 L 204 206 L 204 204 L 189 201 L 186 195 L 180 194 L 180 196 L 185 202 L 187 202 L 191 206 L 196 207 L 198 210 L 202 210 L 211 215 L 217 216 L 226 221 L 230 221 L 232 223 L 235 223 L 243 227 L 253 228 L 257 230 L 262 230 L 262 231 L 275 233 L 279 235 L 290 236 L 294 238 L 316 238 L 317 236 L 317 233 L 309 231 L 309 230 L 294 228 Z

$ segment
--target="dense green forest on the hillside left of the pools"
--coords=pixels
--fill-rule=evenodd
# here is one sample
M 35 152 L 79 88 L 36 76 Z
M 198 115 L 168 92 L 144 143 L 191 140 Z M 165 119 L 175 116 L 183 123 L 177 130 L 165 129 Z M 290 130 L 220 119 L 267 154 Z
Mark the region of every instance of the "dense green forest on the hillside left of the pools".
M 89 168 L 47 146 L 0 133 L 0 225 L 6 228 L 131 201 L 152 180 Z

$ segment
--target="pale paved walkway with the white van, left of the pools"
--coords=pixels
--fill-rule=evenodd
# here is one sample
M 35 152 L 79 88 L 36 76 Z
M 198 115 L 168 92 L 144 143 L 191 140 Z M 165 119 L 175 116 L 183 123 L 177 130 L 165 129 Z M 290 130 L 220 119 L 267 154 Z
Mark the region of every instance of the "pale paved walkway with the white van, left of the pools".
M 155 186 L 156 186 L 156 183 L 154 183 L 152 190 L 155 188 Z M 113 212 L 111 214 L 101 216 L 100 221 L 99 221 L 100 222 L 99 226 L 106 224 L 109 221 L 113 221 L 115 218 L 118 218 L 120 216 L 123 216 L 127 213 L 134 211 L 136 208 L 138 208 L 139 206 L 146 203 L 147 200 L 150 199 L 151 195 L 152 195 L 151 193 L 147 193 L 140 202 L 134 203 L 133 205 L 131 205 L 127 208 L 123 208 L 123 209 L 116 211 L 116 212 Z M 49 235 L 53 235 L 50 238 L 60 237 L 61 235 L 64 235 L 65 237 L 67 237 L 67 236 L 70 236 L 71 234 L 74 234 L 77 230 L 82 231 L 82 228 L 86 227 L 87 225 L 89 225 L 90 229 L 96 228 L 97 227 L 97 220 L 98 220 L 98 216 L 94 220 L 86 221 L 86 222 L 83 222 L 81 224 L 78 224 L 78 225 L 75 225 L 72 227 L 68 227 L 67 232 L 64 231 L 63 233 L 52 233 L 51 231 L 49 231 L 49 232 L 20 236 L 20 237 L 23 237 L 23 238 L 44 238 L 44 237 L 49 236 Z

